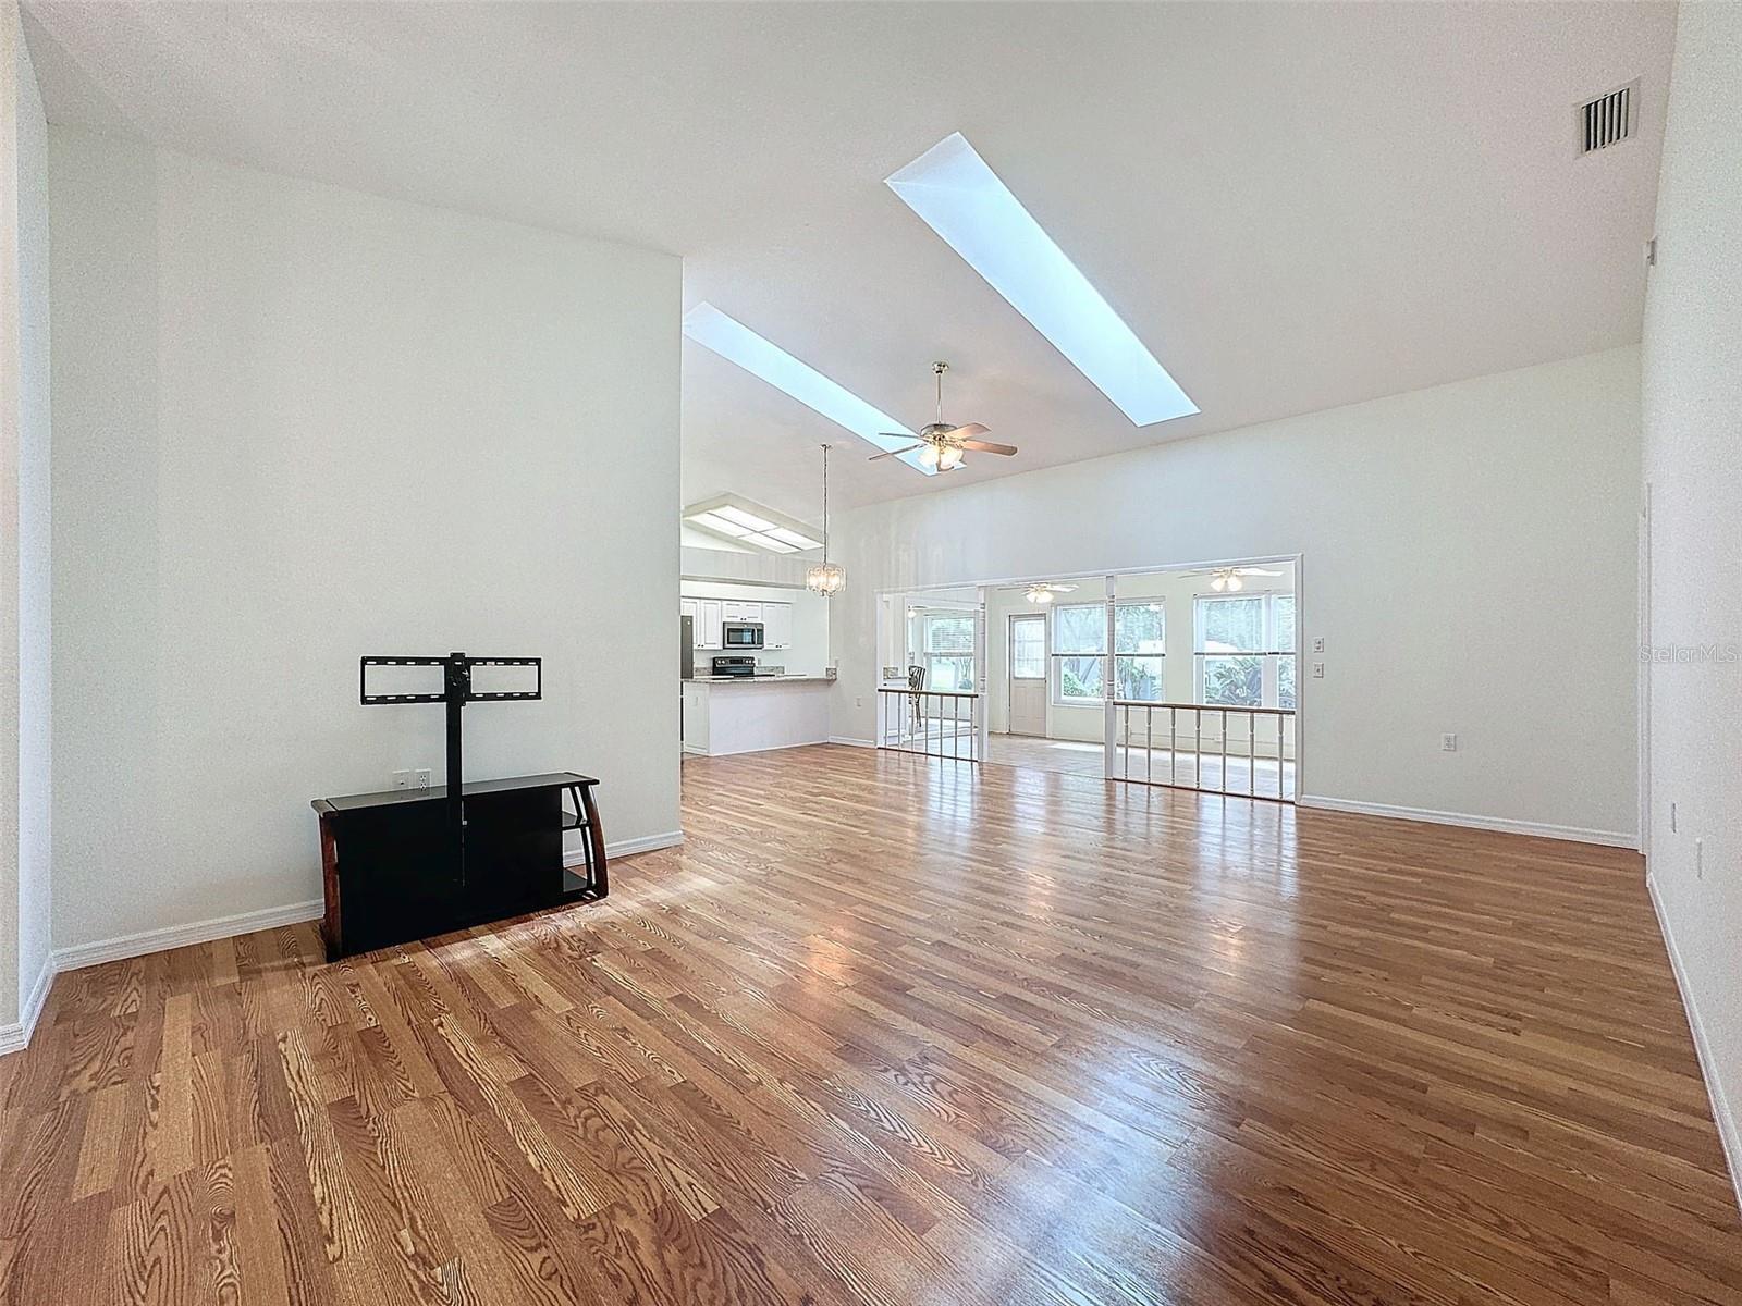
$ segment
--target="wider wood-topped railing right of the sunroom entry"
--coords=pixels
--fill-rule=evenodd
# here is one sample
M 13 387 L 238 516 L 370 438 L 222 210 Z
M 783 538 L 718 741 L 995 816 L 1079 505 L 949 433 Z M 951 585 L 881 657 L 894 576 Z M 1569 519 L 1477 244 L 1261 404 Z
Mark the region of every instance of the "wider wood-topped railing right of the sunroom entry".
M 1113 712 L 1113 780 L 1294 801 L 1291 707 L 1115 698 Z M 1205 717 L 1211 717 L 1207 745 Z M 1240 723 L 1232 751 L 1230 717 Z

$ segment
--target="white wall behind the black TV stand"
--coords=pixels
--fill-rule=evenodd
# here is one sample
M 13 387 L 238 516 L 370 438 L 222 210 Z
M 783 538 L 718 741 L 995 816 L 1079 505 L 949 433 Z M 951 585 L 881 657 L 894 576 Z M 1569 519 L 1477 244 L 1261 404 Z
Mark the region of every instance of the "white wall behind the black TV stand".
M 442 766 L 364 653 L 544 656 L 467 773 L 676 831 L 676 258 L 61 129 L 51 216 L 57 947 L 317 899 Z

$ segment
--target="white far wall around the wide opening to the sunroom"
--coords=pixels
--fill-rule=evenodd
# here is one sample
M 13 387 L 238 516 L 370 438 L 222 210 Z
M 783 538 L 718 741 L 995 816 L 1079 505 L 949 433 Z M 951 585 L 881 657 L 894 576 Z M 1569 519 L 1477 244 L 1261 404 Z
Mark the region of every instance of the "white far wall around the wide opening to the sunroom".
M 833 733 L 880 589 L 1300 552 L 1305 794 L 1631 841 L 1637 468 L 1622 348 L 847 512 Z

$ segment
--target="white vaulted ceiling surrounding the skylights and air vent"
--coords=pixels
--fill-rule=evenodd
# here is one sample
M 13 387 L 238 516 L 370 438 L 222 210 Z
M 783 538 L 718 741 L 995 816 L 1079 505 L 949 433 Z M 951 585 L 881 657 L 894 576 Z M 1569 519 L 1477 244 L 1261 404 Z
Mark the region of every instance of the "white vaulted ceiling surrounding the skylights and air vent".
M 56 122 L 685 256 L 925 479 L 685 343 L 683 502 L 838 505 L 1639 338 L 1674 7 L 28 3 Z M 1641 136 L 1573 106 L 1643 78 Z M 883 185 L 953 131 L 1202 409 L 1138 428 Z

